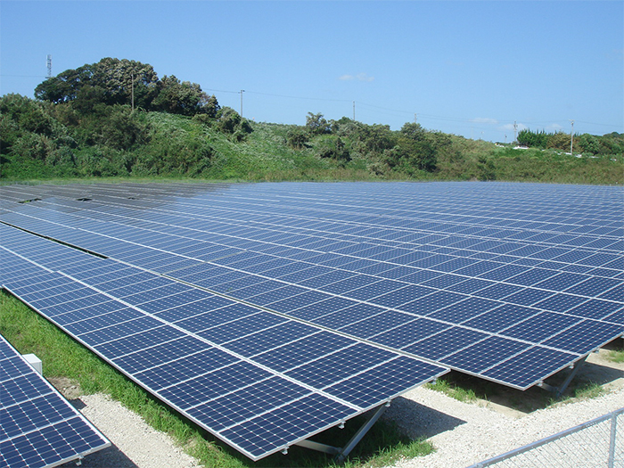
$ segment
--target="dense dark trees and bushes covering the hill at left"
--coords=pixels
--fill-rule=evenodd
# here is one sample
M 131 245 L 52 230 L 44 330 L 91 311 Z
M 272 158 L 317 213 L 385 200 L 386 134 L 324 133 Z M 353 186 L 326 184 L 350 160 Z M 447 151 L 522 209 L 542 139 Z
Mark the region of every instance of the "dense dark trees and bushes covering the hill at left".
M 209 168 L 206 138 L 180 137 L 184 131 L 155 125 L 152 114 L 195 119 L 238 141 L 251 132 L 198 84 L 160 79 L 141 62 L 105 58 L 65 70 L 35 96 L 0 97 L 2 177 L 198 177 Z

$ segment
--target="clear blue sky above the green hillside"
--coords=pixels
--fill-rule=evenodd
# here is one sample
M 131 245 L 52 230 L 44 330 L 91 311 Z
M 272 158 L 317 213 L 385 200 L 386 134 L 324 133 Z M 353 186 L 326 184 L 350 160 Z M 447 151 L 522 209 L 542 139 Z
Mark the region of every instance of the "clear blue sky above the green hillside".
M 257 121 L 308 112 L 490 141 L 624 132 L 620 1 L 0 3 L 0 94 L 116 57 Z M 416 114 L 416 116 L 415 116 Z

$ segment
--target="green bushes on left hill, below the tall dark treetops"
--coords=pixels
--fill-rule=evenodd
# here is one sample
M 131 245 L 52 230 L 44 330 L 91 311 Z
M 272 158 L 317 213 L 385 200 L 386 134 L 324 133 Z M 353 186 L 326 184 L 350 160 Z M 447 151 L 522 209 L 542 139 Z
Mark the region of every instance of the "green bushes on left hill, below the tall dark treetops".
M 20 94 L 0 97 L 0 164 L 3 178 L 189 176 L 210 168 L 214 150 L 208 135 L 242 141 L 249 122 L 228 108 L 179 116 L 132 111 L 127 104 L 77 99 L 48 103 Z

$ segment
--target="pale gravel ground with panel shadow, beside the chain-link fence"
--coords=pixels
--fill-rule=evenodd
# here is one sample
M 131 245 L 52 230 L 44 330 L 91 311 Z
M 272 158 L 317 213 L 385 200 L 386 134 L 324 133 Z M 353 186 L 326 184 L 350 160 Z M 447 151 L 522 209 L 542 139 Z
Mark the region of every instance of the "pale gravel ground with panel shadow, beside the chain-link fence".
M 429 439 L 436 447 L 429 456 L 402 460 L 395 467 L 465 468 L 623 406 L 624 388 L 620 387 L 599 398 L 550 406 L 518 417 L 418 388 L 397 398 L 386 415 L 410 435 Z

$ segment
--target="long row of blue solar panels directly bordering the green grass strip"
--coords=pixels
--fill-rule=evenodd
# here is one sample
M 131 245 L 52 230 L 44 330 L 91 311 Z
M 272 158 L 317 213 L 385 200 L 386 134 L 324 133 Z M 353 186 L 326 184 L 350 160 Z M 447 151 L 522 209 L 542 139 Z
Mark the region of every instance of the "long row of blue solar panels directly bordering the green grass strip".
M 12 251 L 20 245 L 69 250 L 5 226 L 0 233 L 3 259 L 21 259 Z M 2 278 L 4 288 L 252 459 L 447 372 L 113 260 L 68 267 L 79 280 L 39 270 Z M 389 369 L 408 374 L 395 379 Z M 279 422 L 292 414 L 300 420 Z

